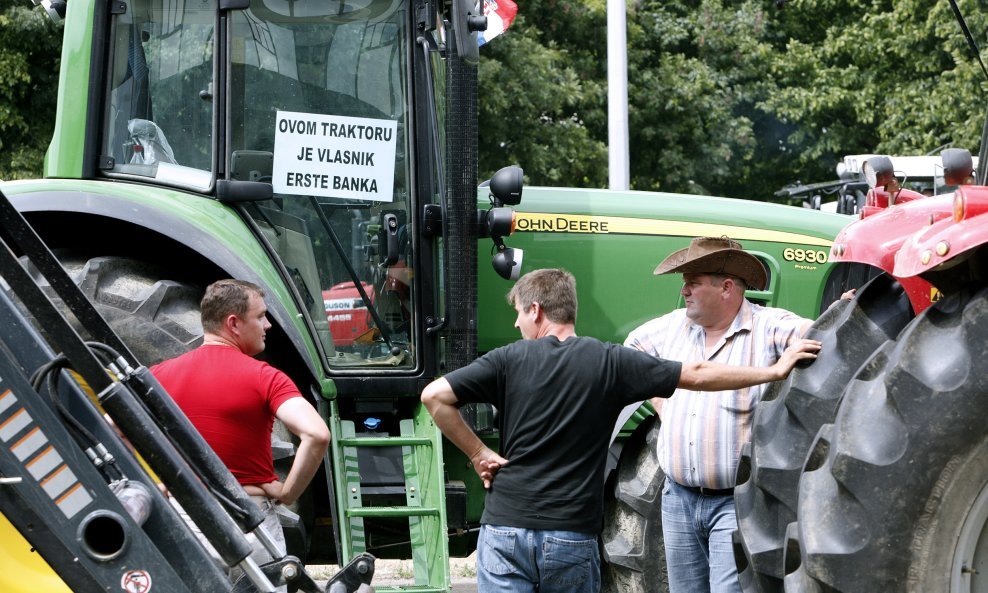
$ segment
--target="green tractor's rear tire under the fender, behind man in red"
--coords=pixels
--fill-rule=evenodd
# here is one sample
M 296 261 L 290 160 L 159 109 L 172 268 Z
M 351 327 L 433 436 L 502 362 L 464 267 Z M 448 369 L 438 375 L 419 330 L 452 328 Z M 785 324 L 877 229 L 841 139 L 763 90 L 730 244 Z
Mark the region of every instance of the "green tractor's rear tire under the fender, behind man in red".
M 139 362 L 145 366 L 184 354 L 202 343 L 199 301 L 202 289 L 161 280 L 167 272 L 123 257 L 59 261 Z M 28 271 L 77 330 L 74 316 L 32 265 Z

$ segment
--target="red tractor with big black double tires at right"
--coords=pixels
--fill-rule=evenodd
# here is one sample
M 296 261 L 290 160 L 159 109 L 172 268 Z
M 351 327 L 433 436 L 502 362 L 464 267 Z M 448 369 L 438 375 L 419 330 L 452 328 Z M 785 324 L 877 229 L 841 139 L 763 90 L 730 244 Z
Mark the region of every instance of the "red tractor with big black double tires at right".
M 988 590 L 988 187 L 966 150 L 942 158 L 956 188 L 934 197 L 866 163 L 831 259 L 877 276 L 758 408 L 735 495 L 746 591 Z

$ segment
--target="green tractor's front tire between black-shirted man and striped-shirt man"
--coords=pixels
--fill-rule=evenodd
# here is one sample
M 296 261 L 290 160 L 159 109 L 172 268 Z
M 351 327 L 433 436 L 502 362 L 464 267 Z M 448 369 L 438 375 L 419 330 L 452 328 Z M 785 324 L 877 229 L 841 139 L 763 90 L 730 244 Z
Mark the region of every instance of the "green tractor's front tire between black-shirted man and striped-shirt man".
M 662 539 L 662 483 L 657 445 L 659 422 L 649 416 L 621 451 L 613 497 L 605 501 L 603 593 L 669 590 Z

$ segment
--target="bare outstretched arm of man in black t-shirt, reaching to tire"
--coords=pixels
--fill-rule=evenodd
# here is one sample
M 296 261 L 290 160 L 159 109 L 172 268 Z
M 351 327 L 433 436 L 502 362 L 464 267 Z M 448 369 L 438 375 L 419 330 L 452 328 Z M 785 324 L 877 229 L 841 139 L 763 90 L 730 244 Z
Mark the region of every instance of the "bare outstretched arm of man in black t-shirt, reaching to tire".
M 789 376 L 800 360 L 813 360 L 822 344 L 817 340 L 800 339 L 786 349 L 782 357 L 769 367 L 742 367 L 718 362 L 686 362 L 679 375 L 679 385 L 694 391 L 725 391 L 741 389 Z

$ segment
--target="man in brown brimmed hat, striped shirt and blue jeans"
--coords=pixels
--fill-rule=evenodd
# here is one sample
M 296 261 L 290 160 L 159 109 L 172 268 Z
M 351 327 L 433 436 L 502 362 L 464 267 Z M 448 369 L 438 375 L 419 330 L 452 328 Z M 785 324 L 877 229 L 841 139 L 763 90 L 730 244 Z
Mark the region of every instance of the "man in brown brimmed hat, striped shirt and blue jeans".
M 726 237 L 693 239 L 655 274 L 683 275 L 686 308 L 638 327 L 625 345 L 656 357 L 767 366 L 812 323 L 745 299 L 746 289 L 766 288 L 768 275 Z M 680 388 L 668 400 L 652 400 L 662 420 L 658 457 L 666 474 L 662 533 L 671 593 L 741 591 L 731 542 L 737 529 L 734 474 L 767 387 L 702 395 Z

